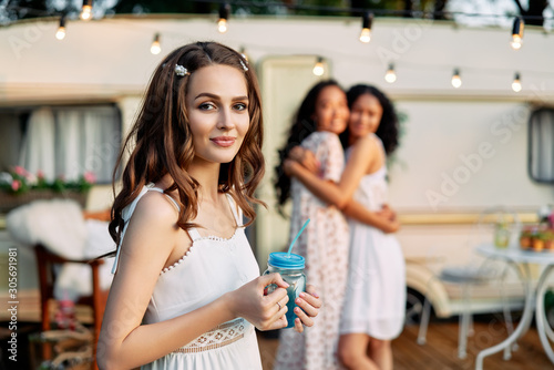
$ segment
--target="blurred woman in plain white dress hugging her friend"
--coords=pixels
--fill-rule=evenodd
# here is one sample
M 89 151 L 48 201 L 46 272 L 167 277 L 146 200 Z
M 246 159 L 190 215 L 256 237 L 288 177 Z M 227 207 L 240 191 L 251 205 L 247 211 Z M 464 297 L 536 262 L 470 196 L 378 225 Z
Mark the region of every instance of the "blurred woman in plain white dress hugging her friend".
M 347 95 L 350 120 L 343 142 L 348 160 L 339 183 L 320 181 L 294 160 L 287 161 L 286 169 L 322 201 L 343 205 L 350 216 L 341 362 L 349 369 L 389 370 L 390 341 L 402 330 L 406 307 L 404 259 L 390 234 L 398 230 L 399 224 L 387 198 L 386 158 L 398 145 L 398 119 L 390 100 L 373 86 L 356 85 Z

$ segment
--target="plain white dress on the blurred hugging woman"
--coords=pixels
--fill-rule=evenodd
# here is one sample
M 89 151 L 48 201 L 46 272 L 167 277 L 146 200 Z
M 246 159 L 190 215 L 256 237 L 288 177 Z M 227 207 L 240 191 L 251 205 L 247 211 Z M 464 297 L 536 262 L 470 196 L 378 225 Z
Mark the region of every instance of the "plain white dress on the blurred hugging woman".
M 384 157 L 381 140 L 375 135 Z M 347 157 L 351 151 L 347 151 Z M 353 198 L 377 212 L 388 203 L 387 167 L 361 178 Z M 380 340 L 400 335 L 406 310 L 406 265 L 392 234 L 349 219 L 350 268 L 341 333 L 367 333 Z

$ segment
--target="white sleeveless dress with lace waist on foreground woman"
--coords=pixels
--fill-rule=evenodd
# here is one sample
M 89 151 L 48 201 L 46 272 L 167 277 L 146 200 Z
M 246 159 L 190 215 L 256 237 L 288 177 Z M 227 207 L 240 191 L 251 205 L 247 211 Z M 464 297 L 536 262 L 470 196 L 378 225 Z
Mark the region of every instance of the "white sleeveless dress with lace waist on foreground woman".
M 161 188 L 147 185 L 123 209 L 125 227 L 122 240 L 136 204 L 148 191 L 163 193 Z M 177 205 L 173 198 L 167 198 Z M 238 225 L 235 234 L 228 239 L 201 237 L 195 228 L 189 229 L 193 245 L 179 260 L 160 273 L 144 315 L 144 325 L 191 312 L 259 276 L 258 264 L 244 232 L 242 212 L 236 210 L 230 195 L 227 198 Z M 113 271 L 117 267 L 119 250 Z M 224 322 L 141 369 L 261 369 L 255 328 L 243 318 Z

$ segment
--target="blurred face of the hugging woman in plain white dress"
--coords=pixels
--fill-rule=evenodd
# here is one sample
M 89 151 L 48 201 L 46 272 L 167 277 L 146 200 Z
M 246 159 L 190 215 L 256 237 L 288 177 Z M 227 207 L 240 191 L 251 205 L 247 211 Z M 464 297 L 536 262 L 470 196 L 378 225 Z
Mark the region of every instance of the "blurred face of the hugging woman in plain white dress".
M 362 94 L 353 102 L 350 109 L 350 136 L 363 137 L 377 132 L 382 117 L 382 106 L 379 100 L 371 94 Z

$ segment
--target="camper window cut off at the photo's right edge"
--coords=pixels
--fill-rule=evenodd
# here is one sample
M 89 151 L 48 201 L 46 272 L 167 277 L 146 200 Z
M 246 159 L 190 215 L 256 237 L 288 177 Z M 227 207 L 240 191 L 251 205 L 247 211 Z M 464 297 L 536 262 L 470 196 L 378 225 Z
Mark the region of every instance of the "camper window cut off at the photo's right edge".
M 554 184 L 554 109 L 538 109 L 529 123 L 529 174 L 540 183 Z

